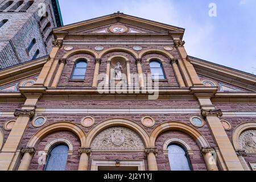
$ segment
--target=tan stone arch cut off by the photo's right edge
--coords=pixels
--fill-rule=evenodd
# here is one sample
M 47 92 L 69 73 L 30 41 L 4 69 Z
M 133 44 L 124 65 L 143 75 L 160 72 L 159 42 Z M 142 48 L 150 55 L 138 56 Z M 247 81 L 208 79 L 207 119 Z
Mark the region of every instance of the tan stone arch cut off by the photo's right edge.
M 247 122 L 247 123 L 241 123 L 234 129 L 233 135 L 232 135 L 232 143 L 234 146 L 234 149 L 242 150 L 239 144 L 239 137 L 242 134 L 243 131 L 249 130 L 249 129 L 256 129 L 256 123 L 255 122 Z

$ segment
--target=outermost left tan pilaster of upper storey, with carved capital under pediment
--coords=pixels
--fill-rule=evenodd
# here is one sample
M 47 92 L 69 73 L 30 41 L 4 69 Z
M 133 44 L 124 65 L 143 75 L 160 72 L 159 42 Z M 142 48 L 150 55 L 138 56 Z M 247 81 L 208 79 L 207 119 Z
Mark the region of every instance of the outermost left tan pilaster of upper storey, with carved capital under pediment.
M 38 80 L 36 80 L 34 85 L 48 86 L 49 81 L 51 80 L 51 77 L 53 75 L 53 72 L 55 71 L 55 68 L 53 69 L 52 64 L 53 61 L 55 61 L 57 53 L 63 45 L 63 40 L 55 40 L 52 42 L 52 44 L 53 48 L 52 51 L 49 53 L 49 60 L 46 64 L 44 64 L 44 67 L 40 72 L 40 75 L 38 76 Z

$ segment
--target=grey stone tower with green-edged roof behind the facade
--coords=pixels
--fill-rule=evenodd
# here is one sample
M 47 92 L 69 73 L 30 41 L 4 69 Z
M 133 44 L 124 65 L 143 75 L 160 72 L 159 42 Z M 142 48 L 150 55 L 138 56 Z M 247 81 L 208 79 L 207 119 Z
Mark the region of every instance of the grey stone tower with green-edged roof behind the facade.
M 0 69 L 47 55 L 60 26 L 58 0 L 0 0 Z

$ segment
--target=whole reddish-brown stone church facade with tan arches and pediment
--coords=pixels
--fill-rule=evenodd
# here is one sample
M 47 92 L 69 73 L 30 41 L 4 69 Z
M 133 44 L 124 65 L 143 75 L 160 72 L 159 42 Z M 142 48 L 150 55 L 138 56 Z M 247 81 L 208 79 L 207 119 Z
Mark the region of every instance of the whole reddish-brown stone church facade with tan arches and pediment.
M 53 28 L 0 71 L 0 170 L 255 170 L 256 77 L 183 35 L 119 12 Z

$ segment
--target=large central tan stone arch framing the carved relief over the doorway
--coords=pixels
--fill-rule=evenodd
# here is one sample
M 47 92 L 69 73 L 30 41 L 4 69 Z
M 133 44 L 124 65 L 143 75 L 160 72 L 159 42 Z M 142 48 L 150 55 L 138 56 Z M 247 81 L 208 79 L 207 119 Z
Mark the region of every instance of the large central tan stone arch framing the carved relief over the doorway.
M 131 129 L 135 131 L 143 140 L 144 147 L 149 147 L 149 136 L 141 126 L 139 126 L 137 123 L 130 121 L 129 119 L 108 119 L 104 122 L 99 123 L 95 127 L 93 127 L 92 130 L 89 131 L 87 137 L 86 137 L 86 147 L 90 147 L 90 144 L 92 143 L 93 139 L 99 134 L 102 130 L 108 129 L 110 127 L 114 126 L 123 126 L 127 127 L 128 129 Z

